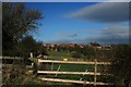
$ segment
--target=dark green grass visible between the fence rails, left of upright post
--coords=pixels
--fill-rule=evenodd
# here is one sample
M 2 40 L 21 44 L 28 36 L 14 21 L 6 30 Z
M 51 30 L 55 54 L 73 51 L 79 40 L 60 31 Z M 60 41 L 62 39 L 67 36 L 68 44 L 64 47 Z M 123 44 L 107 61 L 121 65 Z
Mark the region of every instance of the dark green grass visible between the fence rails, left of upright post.
M 85 64 L 53 64 L 53 71 L 57 71 L 59 65 L 61 65 L 60 67 L 60 72 L 85 72 L 86 70 L 88 72 L 93 72 L 94 71 L 94 65 L 85 65 Z M 43 75 L 40 75 L 43 76 Z M 46 76 L 46 75 L 45 75 Z M 49 77 L 56 77 L 56 75 L 47 75 Z M 62 78 L 62 79 L 74 79 L 74 80 L 79 80 L 80 78 L 83 78 L 83 80 L 87 80 L 93 78 L 93 76 L 90 75 L 57 75 L 57 78 Z

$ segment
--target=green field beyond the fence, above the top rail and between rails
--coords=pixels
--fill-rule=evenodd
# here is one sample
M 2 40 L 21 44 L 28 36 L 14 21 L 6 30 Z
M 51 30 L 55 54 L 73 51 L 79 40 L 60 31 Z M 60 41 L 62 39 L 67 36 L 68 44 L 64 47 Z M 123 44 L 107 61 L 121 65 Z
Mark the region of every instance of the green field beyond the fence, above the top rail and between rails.
M 76 59 L 71 58 L 71 53 L 70 52 L 59 52 L 59 51 L 49 51 L 49 59 L 51 60 L 63 60 L 63 59 L 68 59 L 68 60 L 73 60 L 76 61 Z M 49 64 L 49 69 L 51 70 L 52 63 L 48 63 Z M 51 65 L 51 66 L 50 66 Z M 86 70 L 88 72 L 94 71 L 94 66 L 93 65 L 84 65 L 84 64 L 60 64 L 60 63 L 53 63 L 53 67 L 52 71 L 57 71 L 58 67 L 60 66 L 60 72 L 85 72 Z M 43 75 L 40 75 L 43 76 Z M 58 78 L 63 78 L 63 79 L 80 79 L 81 77 L 83 79 L 87 79 L 91 76 L 87 75 L 48 75 L 50 77 L 58 77 Z

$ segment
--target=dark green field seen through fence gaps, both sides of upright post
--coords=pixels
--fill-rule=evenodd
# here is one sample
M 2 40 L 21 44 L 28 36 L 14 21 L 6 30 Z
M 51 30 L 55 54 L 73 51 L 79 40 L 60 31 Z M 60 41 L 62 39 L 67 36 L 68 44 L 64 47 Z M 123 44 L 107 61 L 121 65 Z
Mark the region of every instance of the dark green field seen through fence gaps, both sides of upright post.
M 58 63 L 55 63 L 55 64 L 51 64 L 51 63 L 46 63 L 48 65 L 53 65 L 53 72 L 55 71 L 58 71 L 59 69 L 59 72 L 93 72 L 94 73 L 94 65 L 86 65 L 86 64 L 58 64 Z M 51 66 L 49 66 L 51 67 Z M 105 70 L 105 66 L 104 65 L 99 65 L 98 66 L 98 72 L 104 72 Z M 50 69 L 51 70 L 51 69 Z M 43 71 L 43 70 L 40 70 Z M 49 70 L 48 70 L 49 71 Z M 84 74 L 38 74 L 39 77 L 49 77 L 49 78 L 62 78 L 62 79 L 73 79 L 73 80 L 88 80 L 88 82 L 94 82 L 94 75 L 84 75 Z M 98 80 L 100 82 L 102 78 L 104 79 L 103 82 L 104 83 L 108 83 L 108 78 L 111 78 L 111 76 L 97 76 L 98 77 Z

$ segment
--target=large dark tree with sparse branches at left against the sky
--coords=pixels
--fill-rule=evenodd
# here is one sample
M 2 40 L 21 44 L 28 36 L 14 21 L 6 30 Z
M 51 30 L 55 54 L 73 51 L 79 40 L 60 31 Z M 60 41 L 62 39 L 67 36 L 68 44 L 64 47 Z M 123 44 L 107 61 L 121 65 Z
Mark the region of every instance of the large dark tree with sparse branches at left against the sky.
M 25 3 L 2 3 L 2 55 L 27 57 L 29 52 L 44 50 L 40 41 L 32 37 L 44 17 L 38 9 Z

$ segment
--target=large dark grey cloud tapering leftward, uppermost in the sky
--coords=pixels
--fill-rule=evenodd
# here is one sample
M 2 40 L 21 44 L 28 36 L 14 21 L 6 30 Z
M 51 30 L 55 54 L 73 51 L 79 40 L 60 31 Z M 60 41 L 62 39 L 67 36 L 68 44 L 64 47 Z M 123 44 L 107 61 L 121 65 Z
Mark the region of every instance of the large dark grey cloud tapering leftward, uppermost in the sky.
M 85 7 L 67 17 L 81 18 L 88 22 L 117 23 L 129 21 L 128 2 L 102 2 Z

